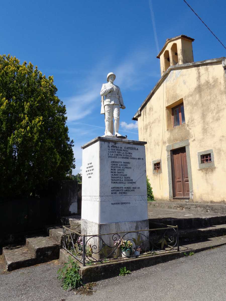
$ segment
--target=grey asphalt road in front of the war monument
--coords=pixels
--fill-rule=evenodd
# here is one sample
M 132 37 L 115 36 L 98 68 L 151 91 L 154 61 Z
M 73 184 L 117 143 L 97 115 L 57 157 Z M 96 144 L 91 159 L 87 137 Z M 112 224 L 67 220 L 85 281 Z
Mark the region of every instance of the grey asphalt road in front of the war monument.
M 4 301 L 225 301 L 226 245 L 175 259 L 127 276 L 99 281 L 92 296 L 65 292 L 57 261 L 0 275 Z

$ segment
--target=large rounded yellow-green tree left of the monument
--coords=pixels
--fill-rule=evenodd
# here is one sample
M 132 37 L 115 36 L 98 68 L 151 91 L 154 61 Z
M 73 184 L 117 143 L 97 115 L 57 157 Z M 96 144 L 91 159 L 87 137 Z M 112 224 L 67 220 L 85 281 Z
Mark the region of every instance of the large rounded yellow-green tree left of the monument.
M 0 196 L 30 196 L 75 168 L 53 76 L 0 55 Z

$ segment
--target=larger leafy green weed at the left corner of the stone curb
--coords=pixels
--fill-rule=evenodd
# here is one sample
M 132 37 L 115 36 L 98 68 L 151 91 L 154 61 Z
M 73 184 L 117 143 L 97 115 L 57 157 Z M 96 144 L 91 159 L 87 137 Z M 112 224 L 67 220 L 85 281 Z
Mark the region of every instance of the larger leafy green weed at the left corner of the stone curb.
M 62 287 L 64 290 L 75 289 L 83 285 L 82 278 L 79 273 L 80 267 L 77 262 L 74 262 L 69 256 L 68 262 L 64 263 L 64 267 L 61 270 L 60 268 L 57 271 L 57 278 L 62 280 Z

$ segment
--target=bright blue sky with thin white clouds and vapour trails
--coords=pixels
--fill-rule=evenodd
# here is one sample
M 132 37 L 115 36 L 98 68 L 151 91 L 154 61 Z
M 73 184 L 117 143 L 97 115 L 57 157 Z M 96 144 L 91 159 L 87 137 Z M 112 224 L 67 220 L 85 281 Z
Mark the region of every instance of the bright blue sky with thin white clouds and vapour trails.
M 187 2 L 226 44 L 226 1 Z M 156 55 L 167 38 L 194 38 L 194 61 L 226 56 L 182 0 L 9 0 L 1 5 L 0 26 L 0 54 L 31 61 L 54 76 L 67 108 L 76 169 L 82 165 L 80 146 L 104 135 L 99 92 L 108 72 L 116 74 L 126 105 L 120 132 L 137 140 L 131 118 L 160 78 Z

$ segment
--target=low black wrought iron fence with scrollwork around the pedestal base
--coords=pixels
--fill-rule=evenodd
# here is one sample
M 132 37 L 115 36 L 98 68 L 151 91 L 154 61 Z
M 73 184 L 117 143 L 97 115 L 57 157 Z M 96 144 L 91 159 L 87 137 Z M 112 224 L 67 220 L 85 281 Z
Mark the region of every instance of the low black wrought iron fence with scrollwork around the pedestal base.
M 96 235 L 78 229 L 63 226 L 63 248 L 83 266 L 179 251 L 177 226 Z

